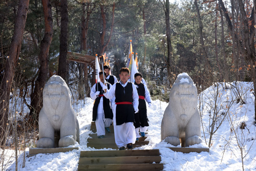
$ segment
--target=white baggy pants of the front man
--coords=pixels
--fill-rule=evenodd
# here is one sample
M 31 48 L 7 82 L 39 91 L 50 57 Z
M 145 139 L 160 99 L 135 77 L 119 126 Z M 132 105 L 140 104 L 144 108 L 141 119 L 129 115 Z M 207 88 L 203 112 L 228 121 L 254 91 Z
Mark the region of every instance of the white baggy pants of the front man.
M 129 143 L 135 143 L 136 133 L 133 122 L 123 123 L 121 125 L 114 124 L 115 141 L 118 148 L 126 147 Z

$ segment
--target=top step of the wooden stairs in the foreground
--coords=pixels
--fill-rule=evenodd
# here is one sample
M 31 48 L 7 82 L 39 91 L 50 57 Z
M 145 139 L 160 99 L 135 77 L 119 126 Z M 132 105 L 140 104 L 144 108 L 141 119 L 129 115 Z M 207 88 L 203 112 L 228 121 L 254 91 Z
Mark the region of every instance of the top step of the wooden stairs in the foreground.
M 111 151 L 81 151 L 83 157 L 124 157 L 124 156 L 159 156 L 159 149 L 132 149 L 132 150 L 111 150 Z

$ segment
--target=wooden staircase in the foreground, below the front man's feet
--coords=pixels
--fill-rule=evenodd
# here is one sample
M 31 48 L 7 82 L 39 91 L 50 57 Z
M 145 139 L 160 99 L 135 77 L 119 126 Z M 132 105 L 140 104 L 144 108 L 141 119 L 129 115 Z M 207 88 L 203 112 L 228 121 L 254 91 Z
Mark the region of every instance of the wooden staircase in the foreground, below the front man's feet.
M 82 151 L 78 171 L 82 170 L 163 170 L 158 149 Z

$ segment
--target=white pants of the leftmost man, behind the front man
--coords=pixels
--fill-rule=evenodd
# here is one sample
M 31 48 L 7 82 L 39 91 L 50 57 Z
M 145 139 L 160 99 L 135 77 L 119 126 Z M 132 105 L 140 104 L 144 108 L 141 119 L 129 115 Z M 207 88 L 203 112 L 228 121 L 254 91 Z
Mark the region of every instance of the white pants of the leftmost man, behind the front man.
M 105 127 L 110 127 L 112 119 L 105 118 L 104 113 L 98 113 L 95 124 L 97 130 L 97 136 L 105 135 Z

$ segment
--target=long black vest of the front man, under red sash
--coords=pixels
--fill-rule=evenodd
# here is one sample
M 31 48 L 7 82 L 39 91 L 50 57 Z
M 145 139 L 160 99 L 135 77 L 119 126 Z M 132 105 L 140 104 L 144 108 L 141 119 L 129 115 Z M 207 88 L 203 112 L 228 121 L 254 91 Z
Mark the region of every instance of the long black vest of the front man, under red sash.
M 133 102 L 133 85 L 128 82 L 125 87 L 121 83 L 116 83 L 115 102 Z M 126 122 L 134 122 L 133 104 L 117 104 L 116 105 L 116 125 Z

